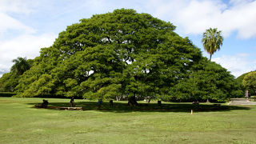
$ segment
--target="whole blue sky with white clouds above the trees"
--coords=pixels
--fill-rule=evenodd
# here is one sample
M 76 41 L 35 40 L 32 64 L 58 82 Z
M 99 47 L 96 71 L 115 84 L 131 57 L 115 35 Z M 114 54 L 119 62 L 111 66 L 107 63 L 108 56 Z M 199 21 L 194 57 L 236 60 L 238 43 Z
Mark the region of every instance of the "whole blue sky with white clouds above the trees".
M 207 58 L 202 33 L 217 27 L 225 39 L 212 60 L 236 77 L 256 70 L 254 0 L 0 0 L 0 77 L 14 58 L 35 58 L 40 48 L 51 46 L 66 26 L 120 8 L 173 23 Z

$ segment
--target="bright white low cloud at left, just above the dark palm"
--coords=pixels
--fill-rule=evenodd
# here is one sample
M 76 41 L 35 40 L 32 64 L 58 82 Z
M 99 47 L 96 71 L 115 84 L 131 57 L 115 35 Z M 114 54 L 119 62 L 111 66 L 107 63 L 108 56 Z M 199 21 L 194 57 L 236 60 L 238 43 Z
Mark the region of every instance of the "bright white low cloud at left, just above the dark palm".
M 34 36 L 24 34 L 18 38 L 0 43 L 0 70 L 10 70 L 12 60 L 18 57 L 35 58 L 42 47 L 51 46 L 57 35 L 42 34 Z

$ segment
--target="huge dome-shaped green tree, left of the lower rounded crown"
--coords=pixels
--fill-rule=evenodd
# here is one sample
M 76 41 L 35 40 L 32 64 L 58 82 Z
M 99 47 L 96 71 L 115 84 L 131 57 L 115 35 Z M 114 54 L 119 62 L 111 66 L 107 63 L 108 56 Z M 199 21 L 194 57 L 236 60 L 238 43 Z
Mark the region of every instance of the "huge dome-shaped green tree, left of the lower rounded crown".
M 21 97 L 121 96 L 130 105 L 138 98 L 165 99 L 203 59 L 201 51 L 174 29 L 170 22 L 135 10 L 82 19 L 60 33 L 53 46 L 42 48 L 16 92 Z

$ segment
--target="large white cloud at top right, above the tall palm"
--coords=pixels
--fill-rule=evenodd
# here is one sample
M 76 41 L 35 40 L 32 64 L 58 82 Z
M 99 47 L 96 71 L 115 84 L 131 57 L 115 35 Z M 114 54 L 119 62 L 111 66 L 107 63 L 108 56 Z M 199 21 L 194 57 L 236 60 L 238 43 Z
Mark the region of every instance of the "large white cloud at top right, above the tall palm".
M 151 0 L 148 8 L 160 18 L 178 25 L 186 34 L 202 34 L 209 27 L 222 30 L 225 37 L 238 31 L 239 38 L 256 36 L 256 1 L 231 0 Z

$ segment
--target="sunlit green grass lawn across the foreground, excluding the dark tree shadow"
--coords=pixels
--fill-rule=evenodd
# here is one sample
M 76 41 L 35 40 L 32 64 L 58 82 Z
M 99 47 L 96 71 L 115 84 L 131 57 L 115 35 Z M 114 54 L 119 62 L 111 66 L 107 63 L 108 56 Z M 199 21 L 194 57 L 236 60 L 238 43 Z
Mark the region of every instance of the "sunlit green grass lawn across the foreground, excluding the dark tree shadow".
M 69 99 L 46 98 L 50 106 Z M 255 143 L 256 106 L 75 99 L 81 110 L 34 108 L 42 98 L 0 98 L 0 143 Z M 194 114 L 190 110 L 194 109 Z

